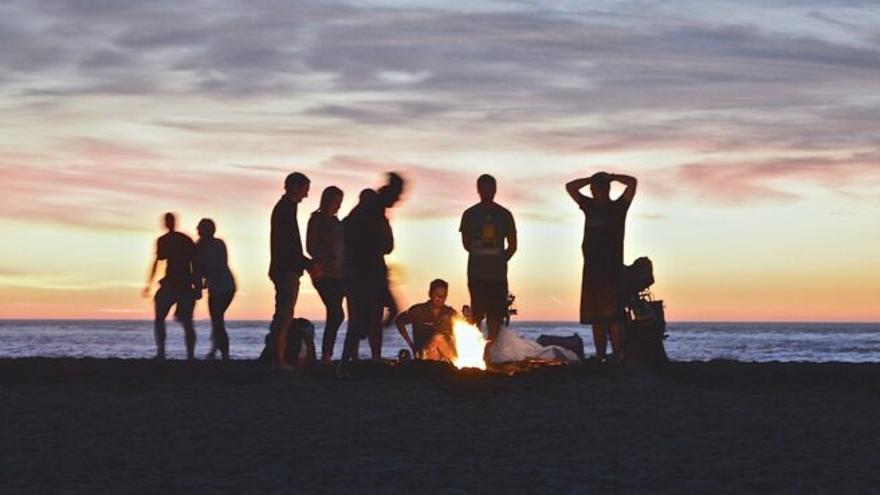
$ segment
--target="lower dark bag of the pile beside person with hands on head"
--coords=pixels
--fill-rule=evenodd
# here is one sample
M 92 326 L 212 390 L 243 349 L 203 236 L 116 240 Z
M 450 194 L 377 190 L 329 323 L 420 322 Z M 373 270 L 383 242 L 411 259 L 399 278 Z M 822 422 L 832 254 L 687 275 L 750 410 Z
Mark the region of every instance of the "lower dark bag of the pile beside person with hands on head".
M 663 301 L 641 297 L 629 305 L 628 316 L 624 327 L 623 362 L 649 367 L 669 362 L 663 346 L 666 338 Z

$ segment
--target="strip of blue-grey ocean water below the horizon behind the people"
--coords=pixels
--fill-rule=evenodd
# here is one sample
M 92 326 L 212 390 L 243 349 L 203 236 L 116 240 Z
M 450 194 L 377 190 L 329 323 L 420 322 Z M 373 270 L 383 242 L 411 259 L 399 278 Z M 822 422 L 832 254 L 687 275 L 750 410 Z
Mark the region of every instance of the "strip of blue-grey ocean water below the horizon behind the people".
M 227 323 L 231 355 L 253 359 L 263 347 L 268 322 Z M 520 336 L 536 339 L 542 334 L 577 333 L 593 353 L 589 328 L 565 322 L 514 321 L 510 327 Z M 316 323 L 320 349 L 323 323 Z M 196 355 L 201 358 L 210 345 L 210 323 L 196 322 Z M 880 323 L 669 323 L 666 351 L 676 361 L 806 361 L 880 362 Z M 342 354 L 345 325 L 336 341 L 335 357 Z M 395 357 L 405 346 L 395 328 L 385 330 L 383 356 Z M 185 357 L 183 330 L 168 322 L 168 357 Z M 361 344 L 361 356 L 369 348 Z M 150 321 L 107 320 L 0 320 L 0 358 L 92 357 L 150 358 L 155 354 Z

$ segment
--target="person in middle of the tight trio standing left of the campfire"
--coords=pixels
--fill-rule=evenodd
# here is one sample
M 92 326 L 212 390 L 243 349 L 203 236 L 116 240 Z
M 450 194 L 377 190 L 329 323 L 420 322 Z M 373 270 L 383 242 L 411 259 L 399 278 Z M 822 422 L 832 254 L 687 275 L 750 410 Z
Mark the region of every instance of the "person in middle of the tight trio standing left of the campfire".
M 321 347 L 321 360 L 324 363 L 333 359 L 336 333 L 345 320 L 345 312 L 342 310 L 342 256 L 345 235 L 342 222 L 336 217 L 342 198 L 342 190 L 338 187 L 329 186 L 324 189 L 321 193 L 321 206 L 309 218 L 306 232 L 306 248 L 312 259 L 324 269 L 324 276 L 313 281 L 327 310 Z

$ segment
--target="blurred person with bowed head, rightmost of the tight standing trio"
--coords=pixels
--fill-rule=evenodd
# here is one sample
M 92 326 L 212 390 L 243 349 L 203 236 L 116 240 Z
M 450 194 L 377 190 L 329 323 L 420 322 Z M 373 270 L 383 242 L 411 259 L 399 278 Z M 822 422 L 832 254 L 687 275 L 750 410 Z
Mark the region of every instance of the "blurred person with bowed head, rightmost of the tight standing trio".
M 388 174 L 388 184 L 364 191 L 360 202 L 343 221 L 345 229 L 345 284 L 348 332 L 342 362 L 357 351 L 359 339 L 369 337 L 374 360 L 382 358 L 382 313 L 388 303 L 388 267 L 385 255 L 394 249 L 394 235 L 385 210 L 400 199 L 403 179 Z

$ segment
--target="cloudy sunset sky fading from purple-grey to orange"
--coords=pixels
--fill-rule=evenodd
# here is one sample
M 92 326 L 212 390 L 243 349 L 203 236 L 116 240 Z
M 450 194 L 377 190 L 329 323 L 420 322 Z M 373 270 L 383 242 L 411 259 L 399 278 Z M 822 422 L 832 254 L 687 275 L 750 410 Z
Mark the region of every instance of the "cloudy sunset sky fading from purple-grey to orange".
M 0 318 L 149 318 L 174 211 L 226 240 L 228 316 L 268 319 L 284 176 L 312 179 L 304 230 L 325 186 L 344 216 L 396 170 L 402 304 L 435 277 L 467 302 L 486 172 L 520 318 L 574 320 L 563 186 L 608 170 L 640 181 L 625 259 L 654 261 L 670 320 L 880 320 L 876 1 L 13 0 L 0 45 Z

